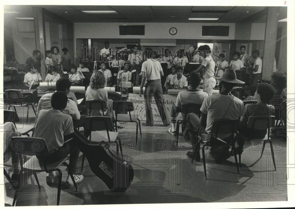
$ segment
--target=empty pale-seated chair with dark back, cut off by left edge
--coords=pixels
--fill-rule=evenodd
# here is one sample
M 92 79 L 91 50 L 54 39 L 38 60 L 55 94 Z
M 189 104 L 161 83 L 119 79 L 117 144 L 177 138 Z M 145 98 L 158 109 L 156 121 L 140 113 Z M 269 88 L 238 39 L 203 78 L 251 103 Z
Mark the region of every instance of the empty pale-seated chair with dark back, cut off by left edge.
M 3 116 L 4 116 L 4 123 L 12 122 L 22 135 L 30 136 L 29 133 L 32 131 L 32 136 L 33 136 L 34 130 L 35 130 L 34 125 L 16 124 L 17 122 L 19 122 L 19 117 L 15 111 L 4 110 Z

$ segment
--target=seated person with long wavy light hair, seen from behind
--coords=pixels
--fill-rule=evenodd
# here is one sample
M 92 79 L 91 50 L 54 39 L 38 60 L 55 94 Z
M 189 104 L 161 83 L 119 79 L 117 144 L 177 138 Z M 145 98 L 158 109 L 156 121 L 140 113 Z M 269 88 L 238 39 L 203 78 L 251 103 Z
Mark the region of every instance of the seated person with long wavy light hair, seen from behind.
M 108 92 L 104 89 L 104 83 L 105 78 L 101 71 L 94 71 L 90 78 L 90 84 L 86 89 L 86 100 L 105 100 L 107 110 L 104 112 L 104 115 L 114 119 L 113 100 L 108 99 Z M 103 116 L 102 110 L 92 110 L 91 116 Z M 117 122 L 117 128 L 122 128 L 119 122 Z

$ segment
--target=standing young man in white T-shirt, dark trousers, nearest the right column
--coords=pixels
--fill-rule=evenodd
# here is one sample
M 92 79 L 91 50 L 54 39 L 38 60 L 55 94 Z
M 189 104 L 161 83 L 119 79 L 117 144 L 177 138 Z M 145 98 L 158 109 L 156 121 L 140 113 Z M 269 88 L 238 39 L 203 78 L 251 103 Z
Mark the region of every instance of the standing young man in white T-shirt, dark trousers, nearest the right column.
M 252 57 L 253 57 L 253 59 L 255 59 L 255 61 L 254 61 L 253 66 L 251 66 L 249 68 L 249 70 L 251 70 L 252 73 L 253 73 L 253 79 L 252 79 L 252 82 L 251 82 L 250 90 L 251 90 L 251 96 L 254 96 L 254 93 L 255 93 L 255 91 L 257 89 L 258 80 L 262 79 L 262 76 L 261 76 L 262 60 L 259 57 L 259 51 L 258 50 L 254 50 L 252 52 Z

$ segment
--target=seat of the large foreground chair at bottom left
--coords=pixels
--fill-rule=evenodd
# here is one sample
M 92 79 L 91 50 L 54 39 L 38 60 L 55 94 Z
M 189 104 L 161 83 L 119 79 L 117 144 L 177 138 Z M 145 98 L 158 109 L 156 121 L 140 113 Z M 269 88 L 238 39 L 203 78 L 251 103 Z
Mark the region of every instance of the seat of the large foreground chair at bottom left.
M 69 159 L 69 157 L 64 157 L 63 159 L 59 160 L 58 162 L 54 162 L 51 164 L 47 164 L 47 169 L 48 170 L 56 170 L 58 167 L 61 166 L 61 164 L 63 164 L 63 162 L 65 162 L 67 159 Z M 44 170 L 44 166 L 41 162 L 41 160 L 39 160 L 36 155 L 34 157 L 31 157 L 27 162 L 25 162 L 23 164 L 23 168 L 25 169 L 30 169 L 30 170 L 35 170 L 35 171 L 45 171 Z

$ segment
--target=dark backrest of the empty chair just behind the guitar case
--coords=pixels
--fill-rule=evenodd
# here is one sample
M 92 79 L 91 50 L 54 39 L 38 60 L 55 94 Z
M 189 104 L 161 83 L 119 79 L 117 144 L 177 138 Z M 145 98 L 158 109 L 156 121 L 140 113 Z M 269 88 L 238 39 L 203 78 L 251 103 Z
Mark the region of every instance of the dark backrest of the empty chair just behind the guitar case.
M 85 117 L 85 129 L 90 131 L 113 130 L 114 125 L 111 117 L 107 116 L 88 116 Z

